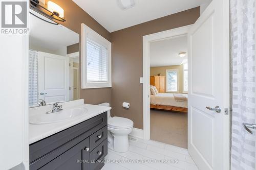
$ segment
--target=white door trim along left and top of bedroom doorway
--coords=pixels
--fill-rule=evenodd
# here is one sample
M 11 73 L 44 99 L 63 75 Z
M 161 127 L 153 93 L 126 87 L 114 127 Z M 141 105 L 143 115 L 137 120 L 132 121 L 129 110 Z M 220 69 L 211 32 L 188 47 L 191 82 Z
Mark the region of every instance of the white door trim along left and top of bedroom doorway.
M 150 42 L 187 34 L 192 25 L 143 36 L 143 139 L 150 140 Z

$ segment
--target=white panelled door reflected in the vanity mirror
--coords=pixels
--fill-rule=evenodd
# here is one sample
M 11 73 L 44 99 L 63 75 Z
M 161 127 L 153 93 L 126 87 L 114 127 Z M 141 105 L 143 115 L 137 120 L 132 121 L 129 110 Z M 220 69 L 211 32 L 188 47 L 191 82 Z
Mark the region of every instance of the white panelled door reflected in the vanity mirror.
M 38 53 L 38 99 L 69 101 L 69 57 Z

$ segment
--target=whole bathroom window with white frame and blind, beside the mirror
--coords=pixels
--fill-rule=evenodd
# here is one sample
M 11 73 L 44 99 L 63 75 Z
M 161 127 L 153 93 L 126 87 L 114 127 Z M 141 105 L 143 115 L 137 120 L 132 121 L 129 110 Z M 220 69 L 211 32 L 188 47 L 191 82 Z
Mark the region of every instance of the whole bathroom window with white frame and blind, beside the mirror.
M 82 88 L 111 87 L 111 42 L 82 24 Z

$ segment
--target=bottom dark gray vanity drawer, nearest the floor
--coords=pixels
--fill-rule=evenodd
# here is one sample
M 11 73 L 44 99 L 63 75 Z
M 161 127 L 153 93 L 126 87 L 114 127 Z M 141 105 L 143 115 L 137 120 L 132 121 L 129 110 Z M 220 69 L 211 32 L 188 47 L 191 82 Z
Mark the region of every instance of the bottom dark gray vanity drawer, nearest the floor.
M 90 152 L 90 169 L 101 169 L 104 165 L 104 158 L 108 154 L 108 139 L 105 139 L 93 151 Z

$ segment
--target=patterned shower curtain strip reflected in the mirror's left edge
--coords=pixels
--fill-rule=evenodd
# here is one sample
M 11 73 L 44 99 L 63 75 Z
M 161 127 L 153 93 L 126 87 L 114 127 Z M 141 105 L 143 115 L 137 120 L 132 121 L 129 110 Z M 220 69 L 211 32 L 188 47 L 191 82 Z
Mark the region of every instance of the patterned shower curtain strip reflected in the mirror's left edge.
M 38 52 L 29 50 L 29 106 L 38 102 Z

